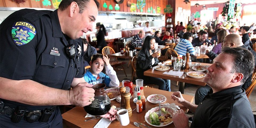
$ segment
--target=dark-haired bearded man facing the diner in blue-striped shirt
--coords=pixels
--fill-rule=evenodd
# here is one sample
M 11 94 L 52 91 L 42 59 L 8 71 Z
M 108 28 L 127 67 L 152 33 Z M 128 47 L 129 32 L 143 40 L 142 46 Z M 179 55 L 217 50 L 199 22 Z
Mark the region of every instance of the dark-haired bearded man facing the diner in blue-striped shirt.
M 194 38 L 192 40 L 192 45 L 193 45 L 193 47 L 201 46 L 201 45 L 203 45 L 203 43 L 206 43 L 206 42 L 208 42 L 208 43 L 210 42 L 208 39 L 208 33 L 206 33 L 205 31 L 201 31 L 201 32 L 199 32 L 199 37 Z

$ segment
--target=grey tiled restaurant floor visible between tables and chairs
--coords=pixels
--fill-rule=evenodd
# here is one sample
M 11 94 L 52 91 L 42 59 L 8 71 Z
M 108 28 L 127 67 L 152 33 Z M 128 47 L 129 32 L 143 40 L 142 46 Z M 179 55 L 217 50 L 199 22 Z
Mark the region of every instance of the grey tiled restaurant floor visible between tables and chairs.
M 119 81 L 121 82 L 122 80 L 124 79 L 129 79 L 131 80 L 131 65 L 129 67 L 128 66 L 128 63 L 129 61 L 128 60 L 120 60 L 120 61 L 124 61 L 124 62 L 127 62 L 126 64 L 124 64 L 124 68 L 125 68 L 125 71 L 126 71 L 126 74 L 127 74 L 127 77 L 125 77 L 125 74 L 122 70 L 119 70 L 117 71 L 117 77 L 119 79 Z M 122 68 L 121 66 L 118 67 L 118 68 Z M 133 80 L 133 83 L 135 84 L 135 80 Z M 171 91 L 175 92 L 175 91 L 178 91 L 179 90 L 179 87 L 178 86 L 175 86 L 176 85 L 176 81 L 171 81 Z M 158 86 L 155 86 L 156 88 L 158 88 Z M 184 91 L 185 94 L 187 95 L 193 95 L 195 96 L 195 91 L 199 88 L 200 86 L 196 86 L 196 87 L 187 87 Z M 251 103 L 251 107 L 252 107 L 252 111 L 253 111 L 253 114 L 256 114 L 256 87 L 254 88 L 253 92 L 251 93 L 250 97 L 249 97 L 249 101 Z M 193 102 L 195 103 L 195 101 Z

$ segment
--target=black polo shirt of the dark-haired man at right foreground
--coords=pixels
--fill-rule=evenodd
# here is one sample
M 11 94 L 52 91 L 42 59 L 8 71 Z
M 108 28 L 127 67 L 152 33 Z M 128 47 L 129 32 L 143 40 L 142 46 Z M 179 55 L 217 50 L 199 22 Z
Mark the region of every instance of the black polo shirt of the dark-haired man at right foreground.
M 255 127 L 251 105 L 242 86 L 205 96 L 190 127 Z

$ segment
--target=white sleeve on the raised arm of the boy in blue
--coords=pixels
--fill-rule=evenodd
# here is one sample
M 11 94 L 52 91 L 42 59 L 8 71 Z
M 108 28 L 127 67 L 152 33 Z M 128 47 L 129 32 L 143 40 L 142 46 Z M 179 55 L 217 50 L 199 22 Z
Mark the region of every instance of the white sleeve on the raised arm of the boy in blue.
M 109 66 L 106 66 L 105 69 L 106 69 L 106 74 L 108 76 L 108 79 L 110 79 L 109 87 L 118 87 L 119 80 L 117 78 L 117 73 L 115 72 L 113 67 L 111 67 L 111 65 L 109 65 Z

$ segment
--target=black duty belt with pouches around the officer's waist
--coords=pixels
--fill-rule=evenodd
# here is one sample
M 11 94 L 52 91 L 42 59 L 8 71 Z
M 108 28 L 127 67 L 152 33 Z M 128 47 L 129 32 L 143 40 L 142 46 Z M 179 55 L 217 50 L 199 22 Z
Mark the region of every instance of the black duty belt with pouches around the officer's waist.
M 21 120 L 25 120 L 29 123 L 37 121 L 40 123 L 46 123 L 57 106 L 47 107 L 43 110 L 27 111 L 26 107 L 24 106 L 17 106 L 16 108 L 13 108 L 10 106 L 5 106 L 5 104 L 0 101 L 0 107 L 0 115 L 11 115 L 10 117 L 13 123 L 18 123 Z

